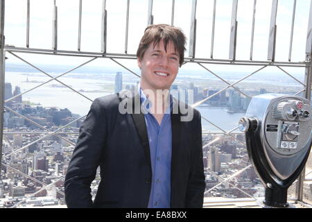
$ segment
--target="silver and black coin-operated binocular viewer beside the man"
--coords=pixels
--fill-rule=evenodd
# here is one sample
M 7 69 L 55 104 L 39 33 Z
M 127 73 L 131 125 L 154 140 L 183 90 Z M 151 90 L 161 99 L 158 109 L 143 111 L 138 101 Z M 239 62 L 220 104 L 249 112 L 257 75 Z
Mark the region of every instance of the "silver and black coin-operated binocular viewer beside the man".
M 254 96 L 239 128 L 250 162 L 265 187 L 264 207 L 289 207 L 287 189 L 300 175 L 312 145 L 310 101 L 300 96 Z

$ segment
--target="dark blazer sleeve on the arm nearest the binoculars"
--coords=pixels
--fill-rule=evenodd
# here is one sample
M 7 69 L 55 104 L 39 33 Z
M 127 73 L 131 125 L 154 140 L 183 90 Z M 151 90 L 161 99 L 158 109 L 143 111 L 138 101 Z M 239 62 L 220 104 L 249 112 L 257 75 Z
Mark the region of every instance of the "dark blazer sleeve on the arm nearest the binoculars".
M 195 112 L 194 112 L 195 113 Z M 195 116 L 195 115 L 194 115 Z M 186 207 L 201 208 L 205 192 L 204 162 L 202 159 L 202 123 L 200 113 L 196 118 L 194 129 L 191 168 L 187 183 Z

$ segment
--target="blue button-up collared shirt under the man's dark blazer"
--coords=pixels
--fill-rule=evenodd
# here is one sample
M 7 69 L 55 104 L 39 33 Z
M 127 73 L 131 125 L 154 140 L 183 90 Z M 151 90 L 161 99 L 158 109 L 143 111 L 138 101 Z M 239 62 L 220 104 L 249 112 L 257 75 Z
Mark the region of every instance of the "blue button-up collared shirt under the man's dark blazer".
M 141 106 L 144 111 L 148 141 L 150 144 L 150 162 L 152 164 L 152 187 L 150 190 L 149 208 L 168 208 L 171 207 L 171 150 L 172 150 L 172 131 L 171 115 L 172 98 L 170 96 L 170 106 L 166 110 L 162 123 L 159 123 L 150 114 L 151 103 L 146 98 L 143 90 L 138 85 Z

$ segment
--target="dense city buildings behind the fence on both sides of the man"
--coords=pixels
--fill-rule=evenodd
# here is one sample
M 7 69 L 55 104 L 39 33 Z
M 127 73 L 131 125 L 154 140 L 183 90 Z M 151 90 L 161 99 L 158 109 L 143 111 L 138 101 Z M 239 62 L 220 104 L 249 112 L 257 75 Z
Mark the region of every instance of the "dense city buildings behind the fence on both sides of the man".
M 116 74 L 112 79 L 111 85 L 112 89 L 115 90 L 115 87 L 130 88 L 131 85 L 121 84 L 122 80 L 119 75 L 122 75 L 121 72 Z M 119 76 L 119 77 L 117 77 Z M 189 90 L 192 89 L 194 96 L 194 101 L 200 101 L 216 93 L 216 89 L 209 89 L 205 87 L 198 87 L 196 83 L 188 83 L 187 85 L 173 84 L 173 89 L 179 90 Z M 23 91 L 19 86 L 15 86 L 15 89 L 12 89 L 10 83 L 6 83 L 6 99 L 8 97 L 14 96 L 17 92 Z M 16 91 L 15 93 L 13 91 Z M 187 91 L 186 91 L 187 92 Z M 266 89 L 260 89 L 258 94 L 265 93 Z M 8 96 L 9 94 L 9 96 Z M 78 116 L 73 117 L 71 110 L 67 108 L 44 108 L 43 105 L 28 105 L 23 103 L 21 96 L 20 99 L 11 100 L 8 102 L 8 106 L 20 114 L 25 115 L 32 121 L 39 123 L 49 130 L 56 130 L 58 127 L 66 126 L 67 123 L 74 121 Z M 17 98 L 19 98 L 17 97 Z M 248 97 L 245 97 L 248 99 Z M 31 101 L 30 101 L 31 102 Z M 243 103 L 241 99 L 241 94 L 235 89 L 227 89 L 226 91 L 218 94 L 205 103 L 202 104 L 205 106 L 221 106 L 229 111 L 244 111 L 243 108 L 248 106 L 248 103 Z M 24 108 L 23 108 L 24 106 Z M 236 108 L 236 110 L 235 110 Z M 239 110 L 241 109 L 241 110 Z M 5 127 L 16 131 L 34 131 L 38 129 L 37 126 L 29 123 L 21 117 L 17 117 L 16 114 L 12 117 L 8 117 L 10 112 L 5 114 Z M 21 173 L 25 173 L 28 176 L 33 177 L 39 182 L 31 182 L 31 180 L 25 180 L 24 177 L 19 173 L 16 173 L 12 168 L 6 168 L 4 179 L 2 180 L 2 185 L 0 184 L 0 194 L 8 198 L 6 207 L 10 207 L 24 198 L 25 195 L 31 195 L 31 192 L 36 192 L 40 190 L 40 182 L 44 184 L 49 184 L 53 180 L 61 178 L 67 169 L 67 164 L 70 160 L 71 152 L 73 151 L 73 144 L 75 144 L 78 137 L 78 128 L 81 125 L 83 119 L 80 119 L 76 123 L 71 123 L 66 129 L 66 132 L 62 131 L 60 134 L 62 137 L 67 138 L 70 143 L 64 139 L 60 139 L 55 136 L 50 136 L 47 139 L 40 139 L 42 134 L 6 134 L 5 145 L 3 147 L 3 158 L 6 161 L 6 165 L 17 169 Z M 10 132 L 7 131 L 7 133 Z M 253 169 L 246 171 L 242 176 L 236 178 L 232 181 L 232 185 L 235 185 L 237 188 L 233 188 L 232 185 L 223 184 L 218 187 L 220 178 L 230 176 L 234 171 L 239 171 L 243 167 L 247 167 L 249 163 L 248 155 L 245 151 L 245 147 L 241 142 L 243 142 L 244 137 L 240 134 L 234 134 L 234 137 L 229 137 L 227 135 L 214 135 L 210 133 L 208 135 L 203 135 L 203 145 L 209 144 L 209 142 L 218 138 L 218 142 L 214 142 L 209 145 L 208 148 L 204 149 L 204 164 L 207 169 L 206 174 L 206 183 L 207 190 L 210 190 L 207 193 L 206 197 L 220 197 L 224 198 L 245 198 L 250 196 L 263 196 L 263 189 L 261 189 L 261 182 L 257 178 Z M 237 138 L 236 138 L 237 137 Z M 11 139 L 10 139 L 11 138 Z M 32 142 L 40 139 L 39 142 L 32 144 Z M 237 140 L 238 139 L 238 140 Z M 27 144 L 31 146 L 27 146 Z M 13 151 L 18 148 L 25 147 L 22 151 L 19 151 L 13 155 L 10 155 Z M 9 155 L 7 157 L 7 155 Z M 25 158 L 26 157 L 26 158 Z M 216 175 L 209 172 L 214 172 Z M 1 174 L 2 175 L 2 174 Z M 46 179 L 45 179 L 46 178 Z M 4 182 L 3 182 L 4 181 Z M 96 179 L 92 184 L 92 194 L 96 194 L 96 185 L 99 180 Z M 2 187 L 2 188 L 1 188 Z M 32 201 L 28 198 L 28 201 L 24 203 L 26 205 L 39 204 L 37 198 L 41 196 L 46 196 L 46 199 L 43 199 L 42 204 L 45 205 L 55 205 L 55 204 L 64 204 L 62 199 L 62 182 L 57 183 L 54 191 L 41 191 L 36 194 L 36 198 L 32 198 Z M 247 195 L 248 194 L 248 195 Z M 52 195 L 52 197 L 50 196 Z M 15 200 L 14 200 L 15 199 Z M 10 202 L 10 201 L 11 202 Z M 36 202 L 37 201 L 37 202 Z M 46 202 L 44 202 L 46 201 Z M 11 204 L 10 204 L 11 203 Z M 21 205 L 23 206 L 23 204 Z

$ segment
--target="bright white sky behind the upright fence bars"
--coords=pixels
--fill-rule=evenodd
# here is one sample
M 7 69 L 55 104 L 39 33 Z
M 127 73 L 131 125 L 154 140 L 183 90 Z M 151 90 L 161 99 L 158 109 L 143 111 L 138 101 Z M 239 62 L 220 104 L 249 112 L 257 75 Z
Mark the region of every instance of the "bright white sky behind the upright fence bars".
M 26 47 L 26 0 L 6 1 L 5 30 L 6 44 Z M 106 0 L 107 10 L 107 53 L 124 53 L 126 0 Z M 296 6 L 293 35 L 292 61 L 304 61 L 310 0 L 299 0 Z M 54 0 L 31 0 L 30 47 L 52 49 L 52 17 Z M 102 0 L 83 0 L 81 51 L 101 51 Z M 58 6 L 58 49 L 76 51 L 78 45 L 78 0 L 56 0 Z M 174 25 L 182 28 L 189 39 L 192 0 L 175 0 Z M 213 0 L 198 0 L 196 19 L 196 58 L 209 58 L 211 51 L 211 27 Z M 253 0 L 239 0 L 237 10 L 238 35 L 236 59 L 249 60 Z M 268 36 L 272 0 L 257 1 L 253 59 L 267 60 Z M 216 25 L 214 58 L 229 58 L 229 34 L 231 27 L 232 0 L 216 1 Z M 279 0 L 277 8 L 276 61 L 288 61 L 291 37 L 293 0 Z M 171 1 L 153 1 L 154 24 L 171 24 Z M 139 40 L 148 22 L 148 0 L 130 0 L 128 53 L 135 54 Z M 187 51 L 189 55 L 189 41 Z M 8 55 L 7 62 L 20 62 Z M 7 56 L 7 57 L 8 57 Z M 25 58 L 24 55 L 23 58 Z M 63 56 L 38 56 L 27 54 L 26 58 L 37 64 L 77 64 L 88 58 L 64 58 Z M 108 65 L 111 61 L 107 62 Z M 126 63 L 128 61 L 125 61 Z M 103 60 L 94 60 L 99 65 Z M 136 61 L 129 61 L 135 66 Z

